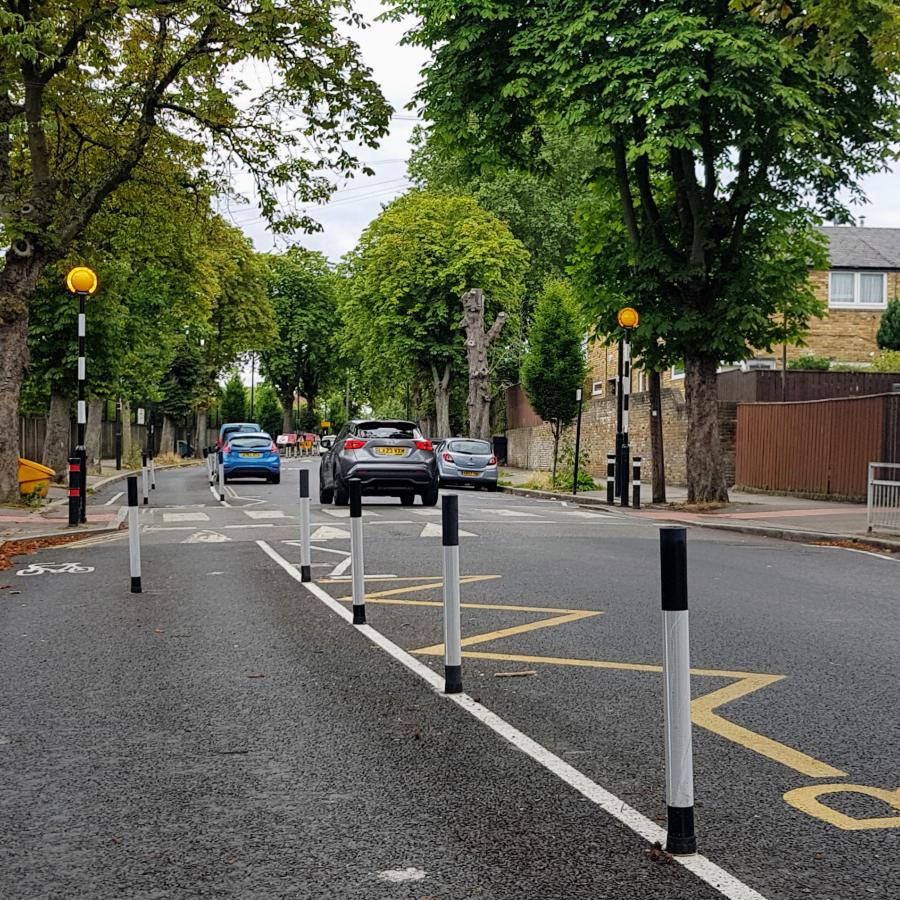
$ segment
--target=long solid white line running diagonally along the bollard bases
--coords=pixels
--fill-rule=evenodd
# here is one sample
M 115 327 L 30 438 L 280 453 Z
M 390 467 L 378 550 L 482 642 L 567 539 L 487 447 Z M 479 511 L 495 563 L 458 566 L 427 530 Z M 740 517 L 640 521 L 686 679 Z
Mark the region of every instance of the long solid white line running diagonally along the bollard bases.
M 260 548 L 268 554 L 288 575 L 295 581 L 299 581 L 314 597 L 322 601 L 335 615 L 340 616 L 345 622 L 352 624 L 353 613 L 349 608 L 335 600 L 327 591 L 314 582 L 301 580 L 300 572 L 288 560 L 273 550 L 265 541 L 256 542 Z M 355 628 L 365 635 L 373 644 L 380 647 L 397 662 L 406 666 L 444 700 L 456 703 L 470 715 L 474 716 L 484 725 L 487 725 L 496 734 L 509 741 L 516 749 L 526 756 L 530 756 L 535 762 L 540 763 L 545 769 L 562 779 L 570 787 L 574 788 L 588 800 L 596 803 L 604 812 L 617 821 L 630 828 L 639 837 L 654 843 L 659 841 L 665 844 L 666 832 L 645 815 L 607 791 L 586 775 L 583 775 L 574 766 L 564 762 L 555 753 L 551 753 L 546 747 L 532 740 L 522 731 L 510 725 L 505 719 L 501 719 L 496 713 L 491 712 L 486 706 L 477 703 L 468 694 L 445 694 L 444 679 L 437 672 L 429 669 L 424 663 L 407 653 L 402 647 L 398 647 L 392 640 L 386 638 L 381 632 L 376 631 L 371 625 L 356 625 Z M 712 860 L 696 853 L 691 856 L 676 856 L 675 861 L 684 866 L 698 878 L 715 888 L 728 900 L 766 900 L 762 894 L 753 890 L 744 882 L 738 880 L 730 872 L 726 872 L 717 866 Z

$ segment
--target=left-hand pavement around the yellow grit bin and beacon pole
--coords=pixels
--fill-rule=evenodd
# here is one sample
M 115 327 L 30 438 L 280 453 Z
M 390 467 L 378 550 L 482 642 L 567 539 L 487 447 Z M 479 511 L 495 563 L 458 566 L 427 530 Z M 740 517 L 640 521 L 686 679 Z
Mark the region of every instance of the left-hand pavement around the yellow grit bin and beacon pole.
M 186 460 L 183 465 L 197 465 L 201 461 Z M 139 474 L 140 469 L 123 467 L 116 470 L 115 461 L 103 460 L 98 474 L 88 475 L 88 501 L 84 524 L 69 527 L 68 486 L 51 484 L 47 497 L 40 506 L 31 507 L 0 505 L 0 546 L 6 541 L 44 540 L 56 537 L 71 537 L 73 534 L 104 534 L 116 530 L 124 521 L 125 514 L 120 508 L 124 503 L 124 479 Z M 168 468 L 158 465 L 157 471 Z M 102 503 L 95 502 L 92 494 L 106 485 L 119 485 L 119 491 L 105 496 Z M 118 505 L 116 505 L 118 504 Z

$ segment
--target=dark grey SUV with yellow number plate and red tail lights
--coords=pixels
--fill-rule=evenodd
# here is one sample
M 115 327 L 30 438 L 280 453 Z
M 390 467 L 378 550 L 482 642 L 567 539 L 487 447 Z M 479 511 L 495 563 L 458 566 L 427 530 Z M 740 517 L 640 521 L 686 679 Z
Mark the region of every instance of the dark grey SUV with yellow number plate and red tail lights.
M 416 494 L 423 506 L 438 501 L 438 473 L 431 441 L 413 422 L 395 419 L 356 419 L 348 422 L 325 447 L 319 470 L 319 501 L 346 506 L 351 478 L 362 483 L 366 495 L 399 497 L 412 506 Z

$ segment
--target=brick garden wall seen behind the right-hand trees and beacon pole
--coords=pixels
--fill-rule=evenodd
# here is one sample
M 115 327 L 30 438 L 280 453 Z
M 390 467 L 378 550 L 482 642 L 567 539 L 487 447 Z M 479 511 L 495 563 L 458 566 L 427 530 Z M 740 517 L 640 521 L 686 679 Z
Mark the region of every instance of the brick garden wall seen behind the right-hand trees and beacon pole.
M 684 484 L 686 480 L 685 443 L 687 416 L 684 397 L 679 390 L 662 392 L 663 452 L 666 460 L 666 481 Z M 734 483 L 734 453 L 737 429 L 737 405 L 719 404 L 719 431 L 725 450 L 725 469 L 729 484 Z M 509 465 L 523 469 L 549 471 L 553 458 L 553 435 L 550 426 L 512 428 L 506 433 Z M 650 453 L 650 395 L 636 394 L 631 398 L 629 439 L 631 453 L 643 460 L 645 480 L 650 481 L 652 458 Z M 566 429 L 560 447 L 575 443 L 575 427 Z M 584 405 L 581 418 L 581 447 L 588 456 L 588 471 L 595 479 L 605 480 L 606 454 L 616 444 L 616 403 L 611 397 L 592 397 Z

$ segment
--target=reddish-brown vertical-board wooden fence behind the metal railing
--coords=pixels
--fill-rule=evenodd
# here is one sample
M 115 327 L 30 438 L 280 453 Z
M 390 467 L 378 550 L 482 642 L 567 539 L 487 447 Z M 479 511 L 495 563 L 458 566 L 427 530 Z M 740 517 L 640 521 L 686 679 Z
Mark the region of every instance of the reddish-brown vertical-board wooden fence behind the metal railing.
M 900 394 L 738 405 L 738 487 L 862 500 L 870 462 L 900 462 Z

